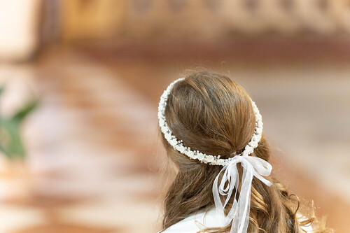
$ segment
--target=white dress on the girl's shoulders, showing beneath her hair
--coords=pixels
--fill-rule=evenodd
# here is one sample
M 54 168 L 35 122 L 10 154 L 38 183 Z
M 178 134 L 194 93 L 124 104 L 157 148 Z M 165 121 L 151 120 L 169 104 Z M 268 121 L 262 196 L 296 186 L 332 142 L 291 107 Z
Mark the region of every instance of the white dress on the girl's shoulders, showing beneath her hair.
M 168 227 L 162 233 L 197 233 L 207 227 L 216 227 L 216 211 L 212 209 L 207 212 L 196 213 L 181 220 L 179 223 Z M 303 227 L 307 232 L 311 232 L 311 227 Z M 158 232 L 159 233 L 159 232 Z

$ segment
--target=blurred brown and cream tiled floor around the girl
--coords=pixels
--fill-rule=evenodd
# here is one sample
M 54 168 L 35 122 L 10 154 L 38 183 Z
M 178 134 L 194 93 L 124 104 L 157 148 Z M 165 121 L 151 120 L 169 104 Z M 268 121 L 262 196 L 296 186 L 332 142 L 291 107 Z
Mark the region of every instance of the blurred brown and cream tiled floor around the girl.
M 7 97 L 14 104 L 6 111 L 33 95 L 41 106 L 24 127 L 27 165 L 1 162 L 0 232 L 159 230 L 165 180 L 158 98 L 170 80 L 198 64 L 52 48 L 31 64 L 1 65 L 0 77 L 14 83 Z M 350 68 L 200 65 L 230 72 L 246 87 L 275 145 L 276 176 L 292 192 L 314 199 L 316 213 L 346 233 Z

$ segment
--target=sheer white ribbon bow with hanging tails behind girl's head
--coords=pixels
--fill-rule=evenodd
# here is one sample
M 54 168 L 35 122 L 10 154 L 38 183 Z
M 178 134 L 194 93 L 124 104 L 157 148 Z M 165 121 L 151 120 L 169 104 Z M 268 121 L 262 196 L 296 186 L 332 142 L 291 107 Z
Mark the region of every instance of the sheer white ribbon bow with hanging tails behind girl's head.
M 239 162 L 243 167 L 243 177 L 241 179 L 241 192 L 237 202 L 236 195 L 239 185 L 237 163 Z M 219 223 L 221 227 L 229 225 L 231 220 L 233 220 L 230 233 L 246 233 L 251 206 L 251 182 L 253 181 L 253 176 L 270 186 L 272 183 L 262 176 L 269 176 L 271 170 L 271 164 L 260 157 L 241 155 L 232 157 L 232 160 L 221 169 L 213 185 L 216 219 L 223 220 L 223 222 Z M 218 178 L 221 172 L 224 172 L 224 174 L 220 185 L 218 185 Z M 224 209 L 230 200 L 234 188 L 236 188 L 234 203 L 228 215 L 225 216 Z M 221 202 L 220 195 L 227 196 L 224 204 Z

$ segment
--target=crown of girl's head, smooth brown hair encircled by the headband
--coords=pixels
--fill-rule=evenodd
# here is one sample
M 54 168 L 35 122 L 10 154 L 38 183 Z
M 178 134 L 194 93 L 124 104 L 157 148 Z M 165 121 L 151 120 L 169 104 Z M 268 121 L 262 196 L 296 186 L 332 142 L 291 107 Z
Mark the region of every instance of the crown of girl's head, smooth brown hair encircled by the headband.
M 171 93 L 165 118 L 176 138 L 191 150 L 225 159 L 238 155 L 251 140 L 255 130 L 251 99 L 230 78 L 209 71 L 192 73 L 176 83 Z M 186 166 L 188 160 L 176 161 L 183 156 L 169 155 L 179 166 Z

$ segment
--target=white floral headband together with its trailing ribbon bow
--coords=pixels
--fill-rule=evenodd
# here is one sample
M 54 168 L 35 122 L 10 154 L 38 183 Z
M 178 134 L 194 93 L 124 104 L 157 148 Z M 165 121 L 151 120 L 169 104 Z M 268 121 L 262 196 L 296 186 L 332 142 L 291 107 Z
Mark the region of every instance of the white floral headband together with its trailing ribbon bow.
M 169 94 L 175 83 L 184 80 L 185 78 L 179 78 L 174 82 L 170 83 L 167 90 L 164 91 L 160 97 L 160 102 L 158 106 L 158 120 L 162 133 L 165 139 L 168 141 L 172 147 L 179 151 L 183 155 L 187 155 L 190 159 L 200 160 L 200 162 L 210 164 L 210 165 L 221 165 L 223 169 L 216 176 L 213 184 L 213 196 L 216 207 L 216 227 L 225 227 L 232 222 L 232 227 L 230 233 L 245 233 L 248 229 L 249 223 L 249 209 L 251 204 L 251 182 L 253 177 L 258 178 L 265 185 L 272 185 L 267 179 L 262 176 L 269 176 L 272 170 L 271 164 L 267 161 L 262 160 L 260 157 L 248 156 L 253 153 L 253 150 L 258 147 L 258 143 L 262 136 L 262 117 L 260 115 L 258 107 L 255 105 L 254 101 L 251 100 L 253 106 L 253 111 L 255 114 L 255 132 L 249 141 L 248 145 L 244 148 L 244 151 L 230 157 L 228 159 L 221 159 L 221 155 L 206 155 L 198 150 L 191 150 L 190 147 L 183 146 L 183 141 L 176 139 L 176 136 L 172 134 L 172 130 L 169 129 L 167 125 L 167 120 L 165 118 L 165 108 L 167 106 L 167 100 L 169 99 Z M 239 192 L 239 197 L 237 192 L 239 190 L 239 172 L 237 169 L 237 163 L 241 163 L 243 167 L 243 177 L 241 178 L 241 190 Z M 220 174 L 223 172 L 221 178 L 221 183 L 218 184 L 218 179 Z M 225 206 L 230 201 L 232 197 L 232 192 L 235 190 L 235 196 L 233 199 L 233 204 L 225 215 Z M 226 196 L 224 204 L 221 202 L 220 195 Z M 238 197 L 238 201 L 236 199 Z

